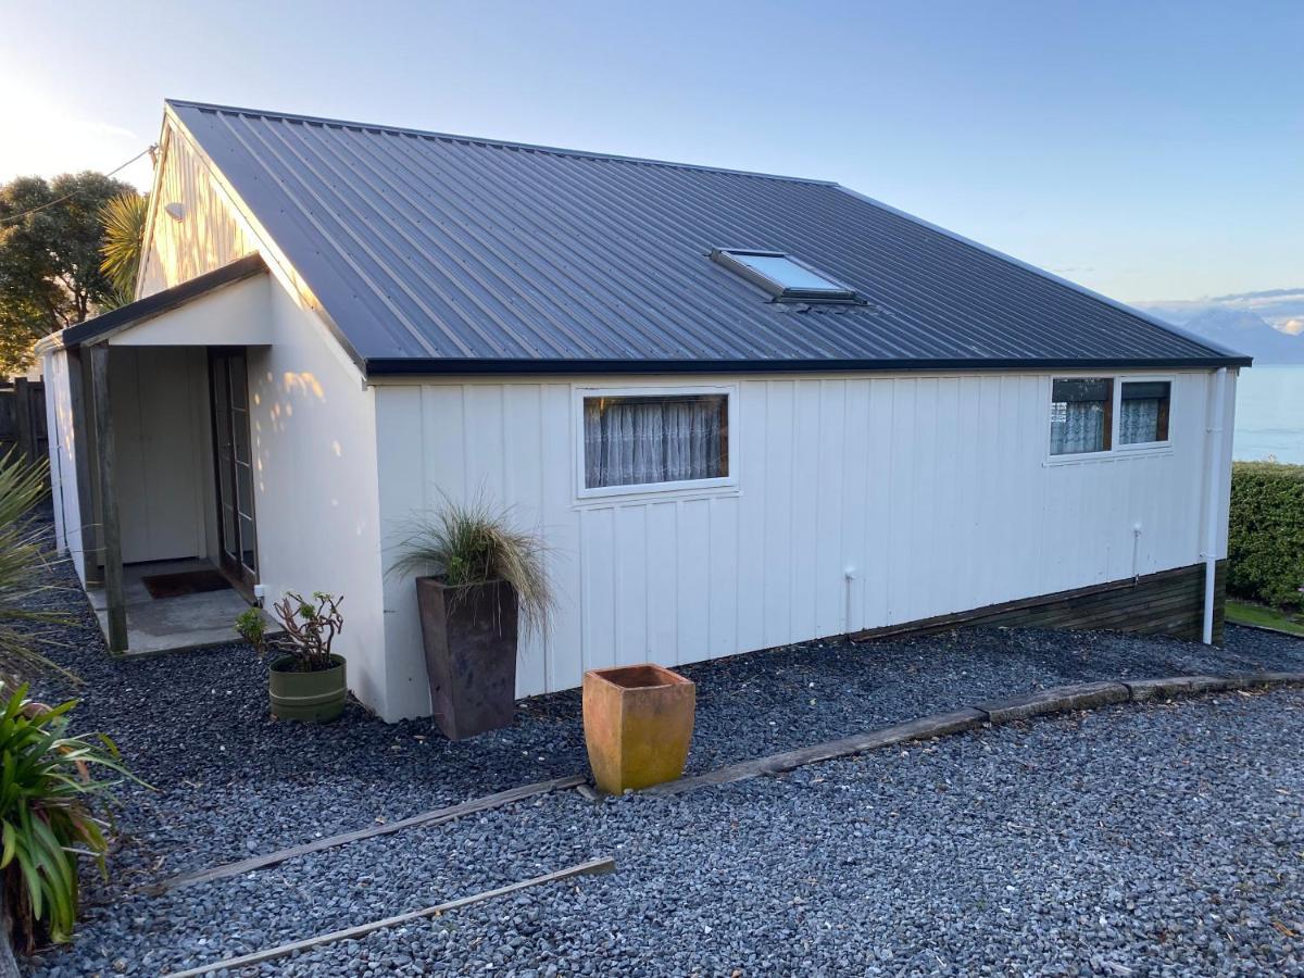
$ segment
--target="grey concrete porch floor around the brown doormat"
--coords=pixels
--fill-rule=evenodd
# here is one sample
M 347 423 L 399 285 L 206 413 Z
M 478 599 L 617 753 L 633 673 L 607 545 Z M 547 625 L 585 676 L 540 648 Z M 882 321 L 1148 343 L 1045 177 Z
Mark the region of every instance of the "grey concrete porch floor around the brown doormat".
M 126 655 L 151 656 L 160 652 L 183 652 L 236 640 L 236 615 L 249 608 L 249 601 L 235 588 L 207 591 L 179 597 L 151 597 L 142 578 L 154 574 L 181 574 L 211 570 L 213 562 L 158 561 L 123 567 L 123 592 L 126 599 Z M 99 630 L 108 634 L 108 612 L 103 588 L 86 591 L 95 610 Z

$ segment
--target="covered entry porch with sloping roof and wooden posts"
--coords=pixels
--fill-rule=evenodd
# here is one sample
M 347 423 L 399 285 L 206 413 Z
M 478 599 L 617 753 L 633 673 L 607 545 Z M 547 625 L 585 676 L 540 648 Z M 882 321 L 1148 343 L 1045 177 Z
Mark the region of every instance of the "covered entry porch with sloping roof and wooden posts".
M 248 352 L 257 256 L 57 334 L 46 359 L 59 546 L 117 655 L 222 644 L 261 597 Z

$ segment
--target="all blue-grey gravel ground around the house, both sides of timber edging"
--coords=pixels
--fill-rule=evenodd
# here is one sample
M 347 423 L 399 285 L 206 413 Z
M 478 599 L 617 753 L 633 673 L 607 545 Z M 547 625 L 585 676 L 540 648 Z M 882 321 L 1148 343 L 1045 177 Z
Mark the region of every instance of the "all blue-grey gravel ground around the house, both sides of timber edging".
M 279 970 L 1110 973 L 1167 955 L 1193 973 L 1300 968 L 1300 940 L 1269 918 L 1304 928 L 1304 781 L 1291 763 L 1304 694 L 1114 708 L 679 801 L 592 806 L 567 792 L 149 898 L 134 889 L 172 872 L 583 772 L 579 696 L 527 700 L 510 730 L 458 745 L 430 721 L 385 725 L 356 704 L 330 726 L 278 724 L 248 648 L 116 662 L 81 595 L 52 599 L 78 615 L 56 656 L 86 681 L 78 726 L 112 733 L 158 790 L 124 792 L 113 878 L 87 878 L 77 944 L 34 974 L 159 974 L 604 854 L 614 878 Z M 1304 669 L 1304 642 L 1228 629 L 1226 649 L 1005 630 L 807 643 L 683 668 L 699 683 L 690 768 L 1061 682 L 1261 668 Z

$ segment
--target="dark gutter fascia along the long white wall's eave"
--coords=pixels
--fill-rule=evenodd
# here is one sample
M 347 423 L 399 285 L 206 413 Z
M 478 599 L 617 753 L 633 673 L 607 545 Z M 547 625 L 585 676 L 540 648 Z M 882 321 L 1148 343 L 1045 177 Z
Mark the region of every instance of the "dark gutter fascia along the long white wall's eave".
M 370 359 L 368 378 L 450 374 L 653 374 L 653 373 L 889 373 L 992 370 L 1217 370 L 1249 366 L 1248 356 L 1167 360 L 466 360 Z

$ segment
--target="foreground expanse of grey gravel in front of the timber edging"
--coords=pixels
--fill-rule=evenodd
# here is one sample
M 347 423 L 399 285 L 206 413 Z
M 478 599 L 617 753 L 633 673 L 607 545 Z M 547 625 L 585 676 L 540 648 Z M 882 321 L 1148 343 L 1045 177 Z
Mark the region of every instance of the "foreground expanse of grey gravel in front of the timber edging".
M 1304 974 L 1304 692 L 1112 707 L 677 799 L 576 793 L 90 914 L 158 973 L 596 855 L 284 974 Z M 63 970 L 63 969 L 72 970 Z

